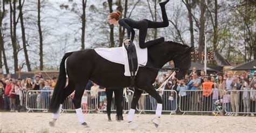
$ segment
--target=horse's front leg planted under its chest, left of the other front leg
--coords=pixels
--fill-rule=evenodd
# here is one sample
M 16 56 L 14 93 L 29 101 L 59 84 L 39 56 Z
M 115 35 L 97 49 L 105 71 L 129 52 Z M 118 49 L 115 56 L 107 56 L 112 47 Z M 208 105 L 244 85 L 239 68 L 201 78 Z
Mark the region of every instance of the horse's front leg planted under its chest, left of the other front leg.
M 138 125 L 133 122 L 133 119 L 134 119 L 135 109 L 138 104 L 140 95 L 142 95 L 142 92 L 143 91 L 138 90 L 138 88 L 134 89 L 132 104 L 131 104 L 131 108 L 130 108 L 130 111 L 129 111 L 129 114 L 127 117 L 127 122 L 129 122 L 129 128 L 137 128 L 138 127 Z

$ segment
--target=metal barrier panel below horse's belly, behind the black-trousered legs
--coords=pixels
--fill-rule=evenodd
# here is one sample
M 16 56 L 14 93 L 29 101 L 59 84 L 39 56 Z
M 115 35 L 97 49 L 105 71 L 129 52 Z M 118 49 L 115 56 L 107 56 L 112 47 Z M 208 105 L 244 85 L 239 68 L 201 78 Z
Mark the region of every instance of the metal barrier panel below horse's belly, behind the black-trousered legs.
M 130 110 L 132 97 L 133 97 L 133 92 L 131 90 L 127 90 L 126 98 L 127 98 L 128 102 L 126 102 L 125 97 L 123 97 L 123 100 L 122 100 L 123 112 L 127 112 Z M 107 104 L 109 104 L 109 103 L 107 102 L 106 92 L 105 92 L 105 90 L 100 90 L 98 92 L 97 110 L 99 110 L 100 112 L 106 111 Z M 111 104 L 111 111 L 116 111 L 116 99 L 114 99 L 114 93 L 113 93 L 112 101 L 110 104 Z

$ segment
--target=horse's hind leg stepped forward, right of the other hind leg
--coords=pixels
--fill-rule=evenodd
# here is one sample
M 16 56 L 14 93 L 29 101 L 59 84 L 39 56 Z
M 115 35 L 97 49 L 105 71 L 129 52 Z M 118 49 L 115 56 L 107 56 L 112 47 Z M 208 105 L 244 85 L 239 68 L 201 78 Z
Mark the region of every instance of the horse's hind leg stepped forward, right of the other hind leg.
M 88 127 L 88 126 L 84 120 L 83 110 L 81 108 L 81 101 L 82 101 L 82 97 L 83 97 L 85 86 L 86 86 L 87 82 L 88 82 L 88 80 L 85 80 L 83 82 L 76 84 L 76 92 L 75 92 L 75 96 L 72 100 L 72 102 L 76 108 L 76 114 L 78 117 L 78 121 L 80 122 L 80 124 L 85 125 L 86 127 Z

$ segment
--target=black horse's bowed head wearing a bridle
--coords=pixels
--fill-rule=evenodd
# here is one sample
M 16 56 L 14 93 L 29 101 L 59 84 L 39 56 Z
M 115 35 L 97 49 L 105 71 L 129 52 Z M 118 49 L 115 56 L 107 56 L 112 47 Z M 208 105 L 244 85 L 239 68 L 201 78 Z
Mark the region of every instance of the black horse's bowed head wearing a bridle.
M 177 54 L 173 57 L 174 67 L 178 68 L 179 71 L 176 71 L 176 78 L 178 80 L 183 79 L 187 73 L 187 71 L 190 69 L 191 66 L 191 51 L 193 50 L 193 47 L 187 47 L 185 48 L 184 53 Z

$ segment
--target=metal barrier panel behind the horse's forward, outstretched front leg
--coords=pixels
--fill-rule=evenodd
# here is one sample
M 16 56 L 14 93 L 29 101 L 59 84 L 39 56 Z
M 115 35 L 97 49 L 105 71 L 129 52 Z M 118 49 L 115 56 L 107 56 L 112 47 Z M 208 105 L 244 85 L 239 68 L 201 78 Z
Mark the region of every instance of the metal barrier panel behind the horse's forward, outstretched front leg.
M 163 90 L 158 91 L 161 98 L 163 99 L 163 110 L 162 112 L 170 112 L 170 114 L 177 110 L 177 92 L 174 90 Z M 145 112 L 156 112 L 157 101 L 148 93 L 140 96 L 137 110 L 141 113 Z

